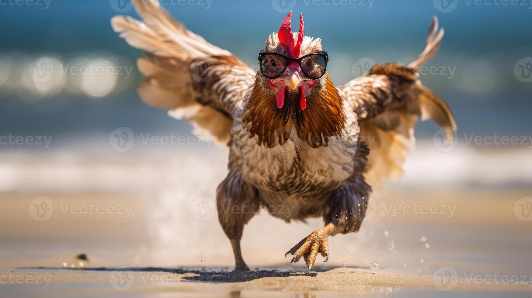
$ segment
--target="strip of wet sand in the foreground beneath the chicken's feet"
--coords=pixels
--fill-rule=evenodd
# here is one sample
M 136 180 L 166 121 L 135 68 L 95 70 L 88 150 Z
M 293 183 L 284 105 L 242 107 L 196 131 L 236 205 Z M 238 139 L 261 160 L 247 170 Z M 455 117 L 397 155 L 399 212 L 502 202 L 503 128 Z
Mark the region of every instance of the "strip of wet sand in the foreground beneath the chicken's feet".
M 31 270 L 31 271 L 30 271 Z M 321 297 L 356 295 L 514 296 L 529 297 L 529 282 L 446 278 L 398 274 L 384 270 L 336 268 L 310 274 L 261 270 L 242 274 L 164 268 L 24 268 L 0 272 L 7 296 L 34 293 L 39 296 L 183 295 L 188 297 Z M 16 281 L 30 280 L 24 284 Z M 49 282 L 49 283 L 47 283 Z M 42 284 L 41 284 L 42 283 Z M 72 289 L 74 286 L 76 289 Z M 452 292 L 448 292 L 452 291 Z M 498 294 L 497 294 L 498 292 Z

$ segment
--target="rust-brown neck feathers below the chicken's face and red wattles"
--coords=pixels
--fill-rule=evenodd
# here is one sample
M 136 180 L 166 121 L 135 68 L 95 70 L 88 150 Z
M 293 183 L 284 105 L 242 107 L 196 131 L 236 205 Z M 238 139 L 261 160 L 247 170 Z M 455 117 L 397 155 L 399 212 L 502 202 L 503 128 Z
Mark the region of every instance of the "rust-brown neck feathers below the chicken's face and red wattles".
M 279 109 L 275 90 L 263 86 L 259 76 L 248 101 L 242 121 L 250 136 L 257 136 L 257 143 L 271 148 L 284 145 L 295 129 L 297 137 L 309 146 L 327 146 L 329 137 L 338 136 L 345 127 L 342 98 L 330 78 L 316 86 L 306 97 L 307 105 L 301 110 L 298 93 L 287 93 L 285 105 Z M 323 138 L 322 138 L 323 136 Z

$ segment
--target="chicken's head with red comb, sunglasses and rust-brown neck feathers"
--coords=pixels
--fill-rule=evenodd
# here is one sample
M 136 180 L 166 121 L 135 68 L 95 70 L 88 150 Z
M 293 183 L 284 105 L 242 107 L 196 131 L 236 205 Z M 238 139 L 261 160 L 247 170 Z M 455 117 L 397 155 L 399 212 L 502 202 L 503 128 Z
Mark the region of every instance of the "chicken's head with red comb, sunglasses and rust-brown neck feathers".
M 243 122 L 267 147 L 284 145 L 293 130 L 312 147 L 327 146 L 345 126 L 342 98 L 326 72 L 321 39 L 304 35 L 302 14 L 299 31 L 292 32 L 291 18 L 289 12 L 259 53 Z

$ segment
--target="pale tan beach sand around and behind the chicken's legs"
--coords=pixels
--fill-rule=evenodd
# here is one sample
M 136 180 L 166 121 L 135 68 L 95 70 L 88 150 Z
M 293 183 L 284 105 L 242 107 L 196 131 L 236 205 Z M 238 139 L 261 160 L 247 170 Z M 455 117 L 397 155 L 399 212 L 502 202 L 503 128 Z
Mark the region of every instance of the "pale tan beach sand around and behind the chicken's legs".
M 422 158 L 406 165 L 402 183 L 372 196 L 360 232 L 330 237 L 329 261 L 319 256 L 307 275 L 284 253 L 322 219 L 287 224 L 269 214 L 244 230 L 253 272 L 231 272 L 231 246 L 209 205 L 225 151 L 200 159 L 82 150 L 0 154 L 0 296 L 532 297 L 532 221 L 518 208 L 532 188 L 519 183 L 528 176 L 498 172 L 517 181 L 499 185 L 495 171 L 478 169 L 496 151 L 431 161 L 431 175 L 422 164 L 433 155 L 414 155 Z M 470 159 L 467 173 L 445 168 Z

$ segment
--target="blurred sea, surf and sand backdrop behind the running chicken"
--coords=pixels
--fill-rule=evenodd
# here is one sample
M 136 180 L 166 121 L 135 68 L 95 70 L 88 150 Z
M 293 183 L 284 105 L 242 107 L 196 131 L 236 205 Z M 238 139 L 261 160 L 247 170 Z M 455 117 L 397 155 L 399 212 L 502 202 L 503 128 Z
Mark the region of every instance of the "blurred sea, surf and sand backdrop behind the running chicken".
M 162 3 L 253 67 L 286 13 L 303 13 L 337 85 L 375 62 L 413 60 L 436 15 L 445 37 L 421 80 L 450 105 L 458 134 L 445 145 L 438 127 L 419 123 L 404 177 L 375 194 L 360 233 L 331 239 L 328 266 L 531 273 L 530 2 Z M 0 2 L 0 266 L 230 270 L 213 205 L 227 150 L 140 101 L 142 52 L 113 32 L 116 14 L 138 18 L 122 0 Z M 289 264 L 286 250 L 321 225 L 257 216 L 244 259 L 252 268 Z M 74 259 L 81 252 L 85 263 Z

